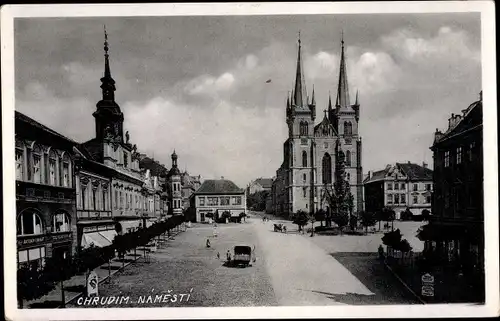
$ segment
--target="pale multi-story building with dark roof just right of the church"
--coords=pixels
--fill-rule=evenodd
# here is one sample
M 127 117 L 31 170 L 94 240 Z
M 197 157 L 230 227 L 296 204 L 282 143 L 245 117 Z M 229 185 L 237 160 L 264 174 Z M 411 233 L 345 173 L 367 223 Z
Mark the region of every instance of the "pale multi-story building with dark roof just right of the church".
M 368 172 L 364 181 L 365 210 L 377 212 L 384 207 L 401 213 L 410 210 L 421 215 L 423 210 L 431 211 L 432 170 L 426 163 L 389 164 L 383 170 Z

